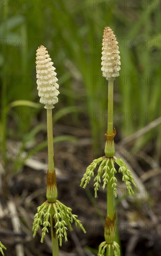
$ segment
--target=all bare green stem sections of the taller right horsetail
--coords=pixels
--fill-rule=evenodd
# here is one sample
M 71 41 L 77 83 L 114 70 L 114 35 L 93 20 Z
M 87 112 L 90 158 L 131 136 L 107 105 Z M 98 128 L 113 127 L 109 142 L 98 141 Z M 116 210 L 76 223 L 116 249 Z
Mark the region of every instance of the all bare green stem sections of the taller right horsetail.
M 108 119 L 107 119 L 107 134 L 113 134 L 113 79 L 108 81 Z M 111 170 L 111 161 L 109 162 L 109 168 Z M 107 183 L 107 215 L 110 219 L 114 216 L 114 195 L 112 189 L 112 182 L 110 182 L 112 174 L 109 172 L 109 178 Z M 106 250 L 107 255 L 108 250 Z M 113 256 L 113 249 L 111 248 L 110 256 Z

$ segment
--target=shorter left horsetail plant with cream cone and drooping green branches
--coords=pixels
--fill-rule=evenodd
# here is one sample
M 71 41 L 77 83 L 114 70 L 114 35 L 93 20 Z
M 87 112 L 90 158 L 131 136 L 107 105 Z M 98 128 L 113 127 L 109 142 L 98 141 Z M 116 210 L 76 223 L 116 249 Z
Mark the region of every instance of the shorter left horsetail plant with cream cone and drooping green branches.
M 43 202 L 37 208 L 33 222 L 33 237 L 36 236 L 37 230 L 43 226 L 41 243 L 43 243 L 48 228 L 51 227 L 52 255 L 59 256 L 59 244 L 62 246 L 62 238 L 67 239 L 67 226 L 72 230 L 72 222 L 86 233 L 81 221 L 77 215 L 72 214 L 72 209 L 65 206 L 57 200 L 56 170 L 54 167 L 54 146 L 53 146 L 53 125 L 52 125 L 52 108 L 58 102 L 59 85 L 56 78 L 55 67 L 50 59 L 46 47 L 39 46 L 36 57 L 37 71 L 37 89 L 40 96 L 40 102 L 43 103 L 47 110 L 47 135 L 48 135 L 48 172 L 47 172 L 47 201 Z

